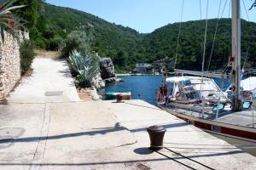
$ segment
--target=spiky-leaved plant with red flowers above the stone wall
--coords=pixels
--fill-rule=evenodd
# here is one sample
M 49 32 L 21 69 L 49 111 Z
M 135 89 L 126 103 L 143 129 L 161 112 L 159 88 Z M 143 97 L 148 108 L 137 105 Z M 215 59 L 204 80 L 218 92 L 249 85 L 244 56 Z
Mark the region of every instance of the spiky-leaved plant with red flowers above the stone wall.
M 25 20 L 11 13 L 11 10 L 15 8 L 23 8 L 26 6 L 13 6 L 17 1 L 18 0 L 0 0 L 0 32 L 2 39 L 4 38 L 3 31 L 9 31 L 10 33 L 15 32 L 20 27 L 24 28 L 24 24 L 26 23 Z

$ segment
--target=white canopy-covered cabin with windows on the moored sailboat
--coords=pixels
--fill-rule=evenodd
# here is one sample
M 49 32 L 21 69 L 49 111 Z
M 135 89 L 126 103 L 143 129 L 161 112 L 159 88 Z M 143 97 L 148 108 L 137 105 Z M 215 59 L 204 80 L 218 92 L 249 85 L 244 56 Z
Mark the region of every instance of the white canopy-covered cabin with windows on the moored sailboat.
M 168 77 L 166 78 L 169 102 L 184 104 L 201 103 L 206 99 L 208 105 L 226 102 L 227 99 L 218 85 L 211 79 L 203 77 Z

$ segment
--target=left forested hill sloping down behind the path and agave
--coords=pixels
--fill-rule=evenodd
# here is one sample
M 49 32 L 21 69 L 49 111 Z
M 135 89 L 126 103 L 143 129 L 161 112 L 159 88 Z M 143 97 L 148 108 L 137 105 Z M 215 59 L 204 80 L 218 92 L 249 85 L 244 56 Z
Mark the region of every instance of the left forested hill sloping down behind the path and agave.
M 39 47 L 55 48 L 52 47 L 55 37 L 65 38 L 70 31 L 78 30 L 81 26 L 85 26 L 84 30 L 93 32 L 92 48 L 102 57 L 113 58 L 119 63 L 119 67 L 127 70 L 137 61 L 136 54 L 143 34 L 73 8 L 45 3 L 44 11 L 38 19 L 39 35 L 34 37 L 37 37 Z

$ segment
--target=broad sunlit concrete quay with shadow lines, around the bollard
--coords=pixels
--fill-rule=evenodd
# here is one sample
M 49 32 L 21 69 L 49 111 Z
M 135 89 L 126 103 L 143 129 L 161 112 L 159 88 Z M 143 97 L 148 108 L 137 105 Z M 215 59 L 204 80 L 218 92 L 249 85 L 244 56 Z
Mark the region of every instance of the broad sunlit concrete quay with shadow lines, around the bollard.
M 159 152 L 148 150 L 155 124 L 167 129 Z M 0 126 L 1 170 L 256 169 L 256 157 L 142 100 L 10 103 Z

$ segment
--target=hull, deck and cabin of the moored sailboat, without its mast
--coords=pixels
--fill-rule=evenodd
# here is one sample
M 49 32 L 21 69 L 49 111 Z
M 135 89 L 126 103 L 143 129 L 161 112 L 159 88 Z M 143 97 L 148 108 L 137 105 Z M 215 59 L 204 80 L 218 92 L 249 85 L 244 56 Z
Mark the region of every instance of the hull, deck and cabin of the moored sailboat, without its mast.
M 252 103 L 244 101 L 243 111 L 233 112 L 212 78 L 167 77 L 161 88 L 166 88 L 158 93 L 161 109 L 207 132 L 256 142 Z

